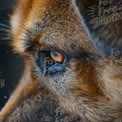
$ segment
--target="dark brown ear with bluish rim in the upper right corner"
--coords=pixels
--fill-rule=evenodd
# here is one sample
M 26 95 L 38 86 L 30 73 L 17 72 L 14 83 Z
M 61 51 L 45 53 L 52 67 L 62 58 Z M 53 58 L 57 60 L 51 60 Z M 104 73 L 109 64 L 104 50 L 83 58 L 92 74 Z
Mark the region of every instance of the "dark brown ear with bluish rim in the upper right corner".
M 122 0 L 75 0 L 94 46 L 106 56 L 122 54 Z

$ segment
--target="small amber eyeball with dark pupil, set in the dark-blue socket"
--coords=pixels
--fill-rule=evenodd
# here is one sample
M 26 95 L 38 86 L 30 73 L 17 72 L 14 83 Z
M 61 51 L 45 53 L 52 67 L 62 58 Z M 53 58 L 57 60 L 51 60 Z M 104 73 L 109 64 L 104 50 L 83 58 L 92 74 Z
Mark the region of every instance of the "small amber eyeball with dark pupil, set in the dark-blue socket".
M 57 63 L 63 63 L 65 59 L 65 56 L 62 53 L 55 51 L 51 51 L 50 56 Z

